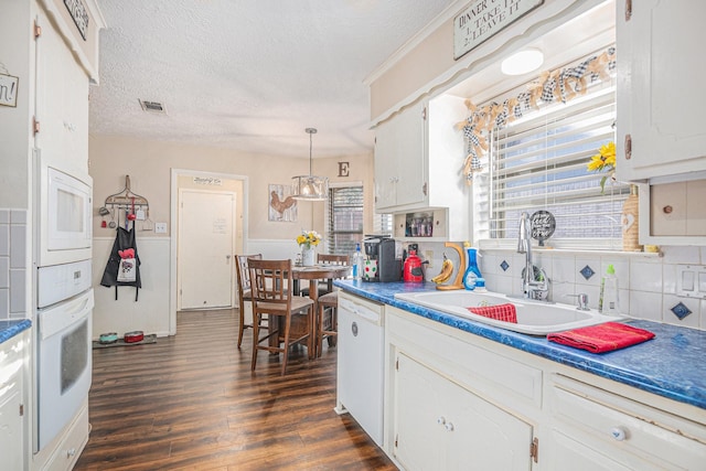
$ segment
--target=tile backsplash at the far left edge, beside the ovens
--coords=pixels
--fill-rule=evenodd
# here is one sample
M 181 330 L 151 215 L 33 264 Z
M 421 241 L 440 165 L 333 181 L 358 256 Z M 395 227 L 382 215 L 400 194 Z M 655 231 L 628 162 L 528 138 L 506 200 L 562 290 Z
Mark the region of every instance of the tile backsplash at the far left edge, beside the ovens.
M 26 218 L 0 208 L 0 320 L 26 318 Z

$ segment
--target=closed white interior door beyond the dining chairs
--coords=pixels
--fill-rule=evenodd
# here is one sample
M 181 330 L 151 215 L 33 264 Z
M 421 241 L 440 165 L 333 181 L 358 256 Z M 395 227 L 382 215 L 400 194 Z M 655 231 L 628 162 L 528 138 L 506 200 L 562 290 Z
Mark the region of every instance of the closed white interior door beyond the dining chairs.
M 235 193 L 180 191 L 179 309 L 234 302 Z

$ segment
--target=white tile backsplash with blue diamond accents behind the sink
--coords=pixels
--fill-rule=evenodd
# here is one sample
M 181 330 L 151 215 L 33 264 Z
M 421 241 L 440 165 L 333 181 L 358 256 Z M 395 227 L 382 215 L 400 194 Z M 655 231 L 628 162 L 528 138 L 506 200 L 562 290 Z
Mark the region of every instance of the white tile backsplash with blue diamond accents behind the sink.
M 442 245 L 420 247 L 435 254 L 434 267 L 426 279 L 438 272 L 441 254 L 458 258 Z M 685 266 L 706 265 L 706 247 L 661 247 L 661 254 L 620 251 L 533 250 L 534 265 L 550 279 L 549 299 L 574 304 L 576 295 L 588 295 L 589 307 L 598 309 L 601 278 L 613 265 L 619 282 L 622 313 L 675 325 L 706 330 L 706 299 L 678 296 L 677 276 Z M 479 266 L 491 291 L 522 293 L 522 269 L 525 256 L 513 249 L 481 249 Z M 456 260 L 454 260 L 456 261 Z

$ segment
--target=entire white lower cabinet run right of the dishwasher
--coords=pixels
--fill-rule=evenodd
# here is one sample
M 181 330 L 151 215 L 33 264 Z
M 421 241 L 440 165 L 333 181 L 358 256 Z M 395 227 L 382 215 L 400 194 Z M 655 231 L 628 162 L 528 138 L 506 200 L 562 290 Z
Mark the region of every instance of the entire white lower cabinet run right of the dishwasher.
M 403 470 L 706 470 L 706 413 L 385 307 Z

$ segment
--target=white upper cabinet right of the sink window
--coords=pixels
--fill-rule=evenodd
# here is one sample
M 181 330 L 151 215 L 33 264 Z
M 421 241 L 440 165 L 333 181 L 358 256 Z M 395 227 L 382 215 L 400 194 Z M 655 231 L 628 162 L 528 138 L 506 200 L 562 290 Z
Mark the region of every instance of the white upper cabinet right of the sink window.
M 618 178 L 706 171 L 706 2 L 618 0 Z

